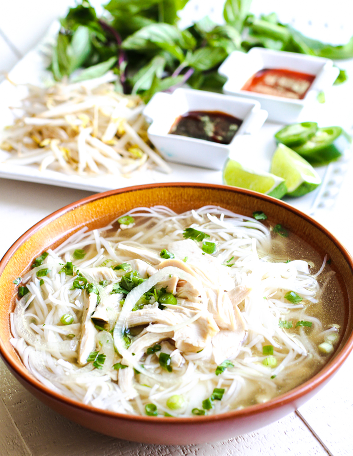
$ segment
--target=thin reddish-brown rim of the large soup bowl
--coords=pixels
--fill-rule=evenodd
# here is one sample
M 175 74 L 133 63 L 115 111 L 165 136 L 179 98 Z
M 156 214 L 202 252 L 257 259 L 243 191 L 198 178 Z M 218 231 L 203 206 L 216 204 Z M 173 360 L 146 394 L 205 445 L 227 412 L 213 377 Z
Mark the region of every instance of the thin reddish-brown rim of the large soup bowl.
M 207 183 L 196 183 L 196 182 L 163 182 L 163 183 L 153 183 L 153 184 L 145 184 L 145 185 L 138 185 L 132 187 L 124 187 L 114 190 L 109 190 L 107 192 L 96 193 L 91 196 L 82 198 L 78 201 L 72 202 L 67 206 L 64 206 L 58 209 L 55 212 L 52 212 L 47 217 L 42 218 L 39 222 L 29 228 L 25 233 L 18 238 L 14 244 L 10 246 L 7 250 L 3 258 L 0 260 L 0 275 L 2 274 L 3 270 L 5 269 L 6 264 L 8 263 L 10 257 L 16 252 L 16 250 L 28 239 L 31 237 L 32 234 L 36 233 L 38 230 L 43 228 L 45 225 L 50 223 L 52 220 L 55 220 L 61 217 L 63 214 L 77 208 L 81 207 L 89 202 L 93 202 L 99 199 L 103 199 L 112 195 L 120 194 L 120 193 L 129 193 L 135 192 L 139 190 L 148 190 L 153 188 L 160 188 L 160 187 L 193 187 L 193 188 L 207 188 L 207 189 L 217 189 L 223 191 L 231 191 L 234 193 L 240 193 L 244 195 L 248 195 L 254 197 L 255 199 L 271 202 L 276 204 L 277 206 L 283 207 L 287 211 L 293 212 L 297 217 L 303 218 L 306 222 L 311 223 L 317 229 L 322 231 L 330 240 L 331 242 L 340 250 L 344 259 L 349 264 L 350 269 L 353 274 L 353 258 L 351 254 L 349 254 L 348 250 L 338 241 L 338 239 L 328 231 L 327 228 L 323 227 L 321 223 L 318 223 L 315 219 L 311 218 L 309 215 L 306 215 L 304 212 L 301 212 L 299 209 L 292 207 L 290 204 L 278 200 L 276 198 L 270 197 L 268 195 L 254 192 L 252 190 L 247 190 L 239 187 L 231 187 L 226 185 L 218 185 L 218 184 L 207 184 Z M 198 424 L 198 423 L 210 423 L 216 421 L 228 421 L 234 420 L 241 417 L 249 417 L 255 414 L 265 413 L 270 410 L 279 408 L 283 405 L 288 405 L 294 403 L 297 399 L 300 399 L 303 396 L 311 393 L 312 390 L 317 389 L 322 384 L 325 384 L 326 381 L 341 367 L 342 363 L 346 360 L 349 353 L 353 349 L 353 332 L 349 335 L 347 342 L 343 345 L 339 352 L 337 352 L 336 356 L 329 361 L 322 370 L 320 370 L 317 374 L 311 377 L 306 382 L 302 383 L 301 385 L 297 386 L 294 389 L 291 389 L 285 394 L 281 394 L 276 396 L 274 399 L 270 399 L 268 402 L 263 404 L 256 404 L 250 405 L 245 407 L 244 409 L 240 410 L 231 410 L 222 414 L 218 415 L 204 415 L 204 416 L 192 416 L 192 417 L 165 417 L 165 416 L 147 416 L 147 415 L 129 415 L 123 413 L 117 413 L 110 410 L 98 409 L 93 407 L 92 405 L 83 404 L 75 399 L 70 399 L 63 394 L 59 394 L 52 389 L 48 388 L 39 380 L 37 380 L 22 364 L 21 369 L 17 368 L 16 363 L 13 361 L 13 357 L 11 356 L 10 352 L 5 348 L 2 339 L 0 338 L 0 356 L 10 369 L 11 373 L 15 373 L 16 377 L 20 377 L 22 381 L 25 383 L 29 383 L 31 386 L 31 390 L 36 390 L 40 395 L 46 395 L 51 397 L 56 402 L 68 405 L 71 408 L 81 409 L 82 412 L 93 413 L 96 415 L 102 415 L 106 418 L 115 418 L 115 419 L 122 419 L 122 420 L 129 420 L 129 421 L 138 421 L 140 423 L 168 423 L 168 424 Z M 14 349 L 15 350 L 15 349 Z M 323 386 L 323 385 L 322 385 Z

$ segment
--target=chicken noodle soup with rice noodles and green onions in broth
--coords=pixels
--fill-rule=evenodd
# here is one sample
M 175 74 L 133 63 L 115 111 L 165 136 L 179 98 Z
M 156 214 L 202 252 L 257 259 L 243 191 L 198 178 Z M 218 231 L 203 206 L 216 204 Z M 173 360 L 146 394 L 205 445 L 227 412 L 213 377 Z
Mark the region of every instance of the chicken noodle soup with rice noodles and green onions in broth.
M 11 343 L 26 368 L 126 414 L 266 402 L 322 368 L 343 323 L 329 259 L 260 211 L 140 207 L 48 249 L 15 283 Z

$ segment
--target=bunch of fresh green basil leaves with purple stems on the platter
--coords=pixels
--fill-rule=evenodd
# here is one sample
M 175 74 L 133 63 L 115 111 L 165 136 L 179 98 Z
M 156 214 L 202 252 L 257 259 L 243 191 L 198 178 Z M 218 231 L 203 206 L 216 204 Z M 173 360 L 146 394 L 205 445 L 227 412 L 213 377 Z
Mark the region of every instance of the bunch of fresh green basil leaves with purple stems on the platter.
M 333 59 L 353 57 L 353 37 L 344 46 L 309 39 L 281 24 L 275 13 L 249 14 L 251 0 L 227 0 L 224 25 L 205 17 L 181 30 L 178 12 L 187 1 L 110 0 L 99 18 L 89 1 L 81 0 L 61 20 L 50 65 L 54 78 L 61 80 L 82 67 L 71 78 L 77 82 L 113 69 L 120 91 L 148 101 L 154 93 L 186 82 L 220 92 L 225 78 L 217 70 L 234 50 L 260 46 Z M 345 79 L 341 71 L 337 83 Z

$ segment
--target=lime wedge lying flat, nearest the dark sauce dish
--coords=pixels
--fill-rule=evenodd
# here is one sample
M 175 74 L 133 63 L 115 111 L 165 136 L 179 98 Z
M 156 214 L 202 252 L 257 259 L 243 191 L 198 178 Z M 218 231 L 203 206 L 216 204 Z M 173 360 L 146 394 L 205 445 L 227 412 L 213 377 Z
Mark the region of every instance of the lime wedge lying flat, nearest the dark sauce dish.
M 238 161 L 229 159 L 223 169 L 223 182 L 226 185 L 247 188 L 281 198 L 287 192 L 285 180 L 265 171 L 245 168 Z

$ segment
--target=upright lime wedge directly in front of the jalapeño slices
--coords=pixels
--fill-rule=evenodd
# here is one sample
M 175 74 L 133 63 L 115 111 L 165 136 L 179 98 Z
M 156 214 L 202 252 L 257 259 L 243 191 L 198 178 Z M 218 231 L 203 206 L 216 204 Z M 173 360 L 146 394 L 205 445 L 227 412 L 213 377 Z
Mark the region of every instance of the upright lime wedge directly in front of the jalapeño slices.
M 320 176 L 303 157 L 279 144 L 271 161 L 271 172 L 285 179 L 287 194 L 301 197 L 321 184 Z

